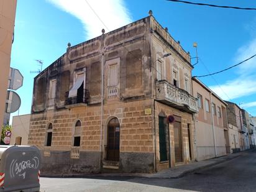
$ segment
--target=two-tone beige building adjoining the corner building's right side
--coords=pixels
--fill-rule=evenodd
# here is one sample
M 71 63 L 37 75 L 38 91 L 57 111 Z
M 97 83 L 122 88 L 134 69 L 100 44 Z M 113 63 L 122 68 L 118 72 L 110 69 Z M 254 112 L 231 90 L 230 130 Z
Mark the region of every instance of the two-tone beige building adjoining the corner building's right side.
M 192 82 L 199 109 L 195 114 L 197 159 L 226 155 L 230 153 L 227 104 L 197 78 L 193 78 Z

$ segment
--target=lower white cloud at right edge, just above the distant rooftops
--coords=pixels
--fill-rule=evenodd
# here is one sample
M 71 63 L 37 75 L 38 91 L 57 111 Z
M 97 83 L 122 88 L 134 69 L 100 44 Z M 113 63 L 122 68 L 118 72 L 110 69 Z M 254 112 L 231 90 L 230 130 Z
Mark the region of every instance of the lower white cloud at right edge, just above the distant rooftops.
M 230 100 L 256 93 L 256 81 L 250 77 L 239 77 L 220 86 L 210 86 L 210 88 L 222 99 Z

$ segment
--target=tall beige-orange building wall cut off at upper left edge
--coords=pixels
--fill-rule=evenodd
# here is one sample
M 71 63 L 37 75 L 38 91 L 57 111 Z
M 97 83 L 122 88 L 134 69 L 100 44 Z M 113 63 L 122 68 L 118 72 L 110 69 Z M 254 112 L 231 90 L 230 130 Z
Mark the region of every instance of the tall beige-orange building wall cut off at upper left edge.
M 0 130 L 4 120 L 6 93 L 11 62 L 11 48 L 17 0 L 0 1 Z

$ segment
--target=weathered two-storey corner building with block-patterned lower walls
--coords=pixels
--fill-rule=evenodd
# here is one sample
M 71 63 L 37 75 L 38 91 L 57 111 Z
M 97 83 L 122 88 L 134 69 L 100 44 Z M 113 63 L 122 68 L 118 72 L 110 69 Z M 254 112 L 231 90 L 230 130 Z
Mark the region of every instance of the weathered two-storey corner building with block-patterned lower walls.
M 193 160 L 192 69 L 153 16 L 69 46 L 34 80 L 29 144 L 42 173 L 148 173 Z

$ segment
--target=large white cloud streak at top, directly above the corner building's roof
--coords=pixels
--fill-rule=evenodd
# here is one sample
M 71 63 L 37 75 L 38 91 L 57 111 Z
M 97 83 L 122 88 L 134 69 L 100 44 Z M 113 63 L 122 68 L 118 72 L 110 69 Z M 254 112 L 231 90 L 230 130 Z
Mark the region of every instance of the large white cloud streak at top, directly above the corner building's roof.
M 104 28 L 114 30 L 123 25 L 129 24 L 132 19 L 129 11 L 126 9 L 123 0 L 47 0 L 58 8 L 80 19 L 84 28 L 86 39 L 92 39 L 101 35 L 101 30 Z M 88 3 L 87 3 L 87 2 Z M 102 24 L 96 14 L 103 21 L 106 27 Z

